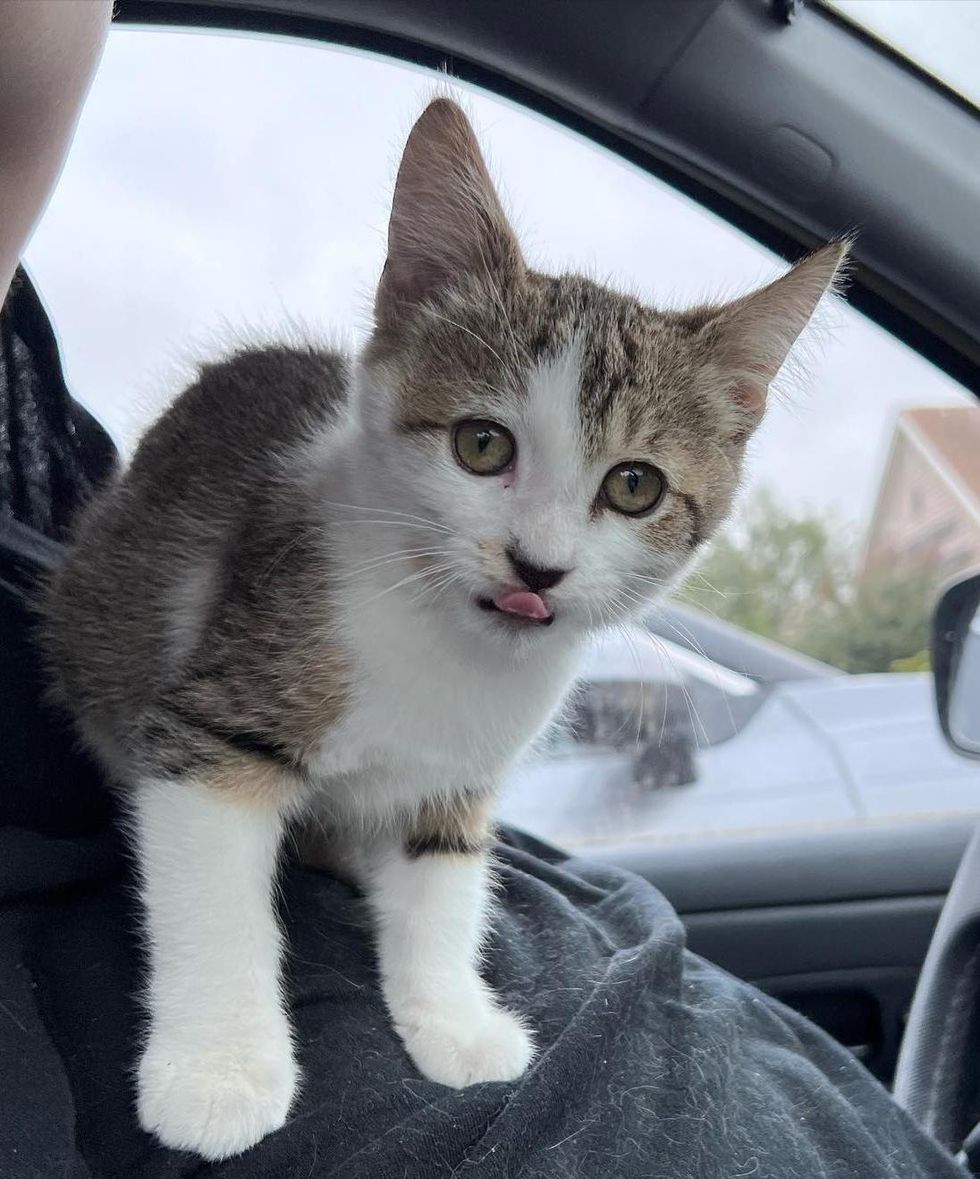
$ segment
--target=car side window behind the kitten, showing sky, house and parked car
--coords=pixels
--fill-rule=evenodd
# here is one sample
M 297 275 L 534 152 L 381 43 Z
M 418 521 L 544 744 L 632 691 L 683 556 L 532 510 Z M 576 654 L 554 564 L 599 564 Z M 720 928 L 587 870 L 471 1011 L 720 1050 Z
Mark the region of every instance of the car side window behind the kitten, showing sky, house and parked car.
M 71 387 L 124 449 L 202 355 L 364 337 L 397 153 L 441 87 L 289 40 L 112 33 L 27 263 Z M 458 91 L 532 264 L 660 305 L 782 269 L 594 144 Z M 790 369 L 732 522 L 649 619 L 596 641 L 506 819 L 601 847 L 980 810 L 928 671 L 936 590 L 980 565 L 980 408 L 843 304 Z

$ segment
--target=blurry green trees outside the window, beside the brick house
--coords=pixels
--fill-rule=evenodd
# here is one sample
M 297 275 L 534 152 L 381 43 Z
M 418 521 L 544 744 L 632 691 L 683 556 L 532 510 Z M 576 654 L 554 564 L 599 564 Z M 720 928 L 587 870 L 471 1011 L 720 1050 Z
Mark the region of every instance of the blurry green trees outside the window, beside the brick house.
M 856 548 L 834 520 L 792 515 L 764 492 L 739 529 L 713 542 L 679 597 L 843 671 L 928 666 L 935 575 L 910 568 L 860 575 Z

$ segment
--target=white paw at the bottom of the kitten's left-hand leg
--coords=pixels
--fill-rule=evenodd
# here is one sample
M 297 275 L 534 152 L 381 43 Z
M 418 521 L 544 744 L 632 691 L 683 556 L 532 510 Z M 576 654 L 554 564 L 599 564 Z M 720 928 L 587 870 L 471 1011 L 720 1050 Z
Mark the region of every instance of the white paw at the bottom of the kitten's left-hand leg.
M 139 1062 L 139 1124 L 164 1146 L 226 1159 L 283 1125 L 298 1079 L 288 1035 L 217 1043 L 153 1035 Z

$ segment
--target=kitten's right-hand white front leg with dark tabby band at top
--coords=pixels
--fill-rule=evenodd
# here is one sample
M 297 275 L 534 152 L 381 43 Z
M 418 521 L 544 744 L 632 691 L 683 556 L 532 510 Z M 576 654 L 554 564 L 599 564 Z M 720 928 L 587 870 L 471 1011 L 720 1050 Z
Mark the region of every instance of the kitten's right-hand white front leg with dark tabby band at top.
M 534 1045 L 480 977 L 491 903 L 486 801 L 430 806 L 368 872 L 384 1000 L 419 1071 L 462 1088 L 509 1081 Z

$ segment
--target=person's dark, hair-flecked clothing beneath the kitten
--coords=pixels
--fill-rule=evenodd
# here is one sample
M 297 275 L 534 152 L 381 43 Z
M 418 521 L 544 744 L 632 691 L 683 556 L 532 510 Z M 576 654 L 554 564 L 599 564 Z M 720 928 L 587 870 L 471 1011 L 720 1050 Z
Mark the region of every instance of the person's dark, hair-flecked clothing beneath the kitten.
M 67 429 L 64 413 L 34 421 Z M 68 447 L 64 434 L 35 442 L 59 463 Z M 42 501 L 59 480 L 37 485 L 55 532 L 65 516 Z M 519 835 L 499 850 L 487 974 L 538 1035 L 520 1082 L 422 1080 L 383 1010 L 361 898 L 289 865 L 297 1108 L 221 1165 L 158 1147 L 133 1114 L 131 869 L 98 772 L 41 704 L 29 644 L 31 569 L 57 547 L 22 527 L 0 541 L 0 1179 L 962 1174 L 848 1053 L 689 954 L 649 884 Z

